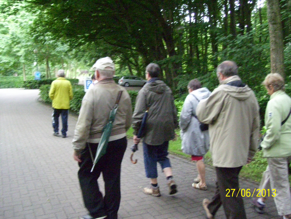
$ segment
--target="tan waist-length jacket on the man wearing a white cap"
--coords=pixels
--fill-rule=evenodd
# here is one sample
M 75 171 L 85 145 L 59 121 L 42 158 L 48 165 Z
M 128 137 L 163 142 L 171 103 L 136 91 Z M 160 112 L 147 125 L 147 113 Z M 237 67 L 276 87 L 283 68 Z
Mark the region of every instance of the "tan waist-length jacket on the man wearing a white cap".
M 81 150 L 86 142 L 99 143 L 102 129 L 107 124 L 110 110 L 113 109 L 117 94 L 122 90 L 121 99 L 113 123 L 109 141 L 121 139 L 131 125 L 131 101 L 124 87 L 117 85 L 113 79 L 99 81 L 93 89 L 88 90 L 82 100 L 80 114 L 75 129 L 73 148 Z

